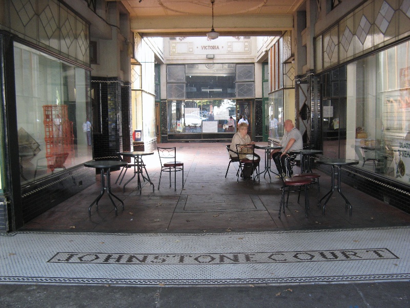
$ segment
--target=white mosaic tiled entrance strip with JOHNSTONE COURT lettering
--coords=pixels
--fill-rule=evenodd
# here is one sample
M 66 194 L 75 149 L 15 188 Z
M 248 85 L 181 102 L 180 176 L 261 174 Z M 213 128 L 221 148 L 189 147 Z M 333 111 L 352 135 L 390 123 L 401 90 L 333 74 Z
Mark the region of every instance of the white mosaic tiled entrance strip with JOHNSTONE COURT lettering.
M 410 279 L 410 227 L 0 236 L 0 283 L 223 285 Z

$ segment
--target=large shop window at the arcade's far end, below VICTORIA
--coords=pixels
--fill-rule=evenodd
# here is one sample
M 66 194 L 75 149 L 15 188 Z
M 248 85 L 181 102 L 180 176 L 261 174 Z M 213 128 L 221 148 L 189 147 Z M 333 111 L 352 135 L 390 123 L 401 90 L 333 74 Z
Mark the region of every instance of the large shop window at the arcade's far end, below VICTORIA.
M 235 99 L 253 99 L 254 80 L 254 64 L 168 65 L 168 132 L 236 131 L 239 113 Z

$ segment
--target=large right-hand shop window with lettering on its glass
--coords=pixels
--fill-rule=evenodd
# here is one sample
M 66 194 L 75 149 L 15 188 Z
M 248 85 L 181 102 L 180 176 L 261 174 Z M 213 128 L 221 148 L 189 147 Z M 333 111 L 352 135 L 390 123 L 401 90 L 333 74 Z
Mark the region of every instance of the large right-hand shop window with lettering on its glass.
M 358 167 L 410 182 L 410 47 L 409 42 L 347 66 L 346 157 Z M 354 142 L 353 142 L 354 140 Z

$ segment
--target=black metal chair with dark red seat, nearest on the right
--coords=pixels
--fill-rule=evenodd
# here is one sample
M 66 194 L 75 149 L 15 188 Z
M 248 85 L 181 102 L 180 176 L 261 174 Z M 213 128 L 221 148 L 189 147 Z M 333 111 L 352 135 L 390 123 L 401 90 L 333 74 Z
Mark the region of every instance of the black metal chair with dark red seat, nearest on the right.
M 280 189 L 282 190 L 282 197 L 280 199 L 278 217 L 280 218 L 280 212 L 282 210 L 282 205 L 283 205 L 283 214 L 285 213 L 285 205 L 284 205 L 285 191 L 288 192 L 288 197 L 286 198 L 286 207 L 288 207 L 289 192 L 291 191 L 299 192 L 299 196 L 300 196 L 301 186 L 304 186 L 304 210 L 305 210 L 305 216 L 308 217 L 308 209 L 309 209 L 309 194 L 308 194 L 309 187 L 308 186 L 312 183 L 312 179 L 304 178 L 304 177 L 292 177 L 292 178 L 285 177 L 284 176 L 285 172 L 280 163 L 280 157 L 274 156 L 274 162 L 275 162 L 276 168 L 278 169 L 279 178 L 282 180 L 282 187 L 280 187 Z M 299 196 L 298 196 L 298 202 L 299 202 Z

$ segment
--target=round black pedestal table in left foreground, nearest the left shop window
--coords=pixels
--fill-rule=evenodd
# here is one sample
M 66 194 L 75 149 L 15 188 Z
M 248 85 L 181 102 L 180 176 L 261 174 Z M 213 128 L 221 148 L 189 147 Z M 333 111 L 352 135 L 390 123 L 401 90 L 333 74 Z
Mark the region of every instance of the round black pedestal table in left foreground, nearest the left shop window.
M 100 170 L 101 173 L 101 192 L 99 196 L 91 203 L 91 205 L 88 207 L 88 216 L 91 216 L 91 207 L 96 203 L 96 208 L 98 210 L 98 201 L 103 197 L 104 192 L 107 190 L 107 195 L 110 197 L 110 200 L 112 204 L 114 205 L 115 208 L 115 216 L 118 215 L 117 213 L 117 206 L 114 203 L 114 200 L 112 200 L 112 197 L 116 198 L 119 200 L 122 204 L 122 210 L 124 210 L 124 202 L 122 202 L 121 199 L 119 199 L 117 196 L 115 196 L 111 192 L 111 182 L 110 182 L 110 169 L 111 168 L 116 168 L 116 167 L 124 167 L 126 166 L 126 162 L 118 162 L 118 161 L 94 161 L 94 162 L 88 162 L 85 163 L 84 166 L 90 167 L 90 168 L 96 168 Z M 104 174 L 107 175 L 107 185 L 105 183 L 105 177 Z M 112 197 L 111 197 L 112 196 Z

